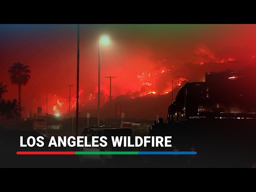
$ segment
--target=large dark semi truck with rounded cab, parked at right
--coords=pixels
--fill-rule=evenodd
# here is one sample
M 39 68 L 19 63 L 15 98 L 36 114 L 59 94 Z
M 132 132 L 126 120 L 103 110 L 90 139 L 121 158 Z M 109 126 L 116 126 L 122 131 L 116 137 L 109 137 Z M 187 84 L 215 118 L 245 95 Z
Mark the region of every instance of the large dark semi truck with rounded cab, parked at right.
M 256 65 L 205 74 L 188 82 L 168 107 L 167 123 L 191 118 L 251 118 L 256 113 Z

